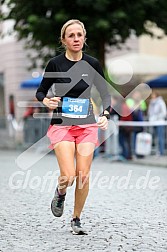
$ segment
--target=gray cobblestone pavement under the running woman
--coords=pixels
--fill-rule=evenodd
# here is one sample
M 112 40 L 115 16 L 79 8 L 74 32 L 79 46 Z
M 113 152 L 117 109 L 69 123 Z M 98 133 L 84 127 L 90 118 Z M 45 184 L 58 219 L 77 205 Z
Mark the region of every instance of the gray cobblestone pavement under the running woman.
M 95 159 L 81 216 L 88 235 L 76 236 L 70 232 L 74 187 L 64 215 L 50 211 L 58 175 L 54 155 L 29 170 L 16 165 L 18 155 L 0 152 L 0 251 L 167 251 L 166 168 Z

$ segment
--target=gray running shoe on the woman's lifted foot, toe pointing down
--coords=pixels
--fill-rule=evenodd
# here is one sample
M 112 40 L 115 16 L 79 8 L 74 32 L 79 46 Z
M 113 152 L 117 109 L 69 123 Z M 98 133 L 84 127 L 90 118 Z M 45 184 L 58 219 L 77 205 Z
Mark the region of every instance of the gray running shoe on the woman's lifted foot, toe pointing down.
M 51 203 L 51 210 L 55 217 L 61 217 L 63 214 L 65 196 L 66 194 L 59 195 L 58 188 L 56 188 L 55 195 Z

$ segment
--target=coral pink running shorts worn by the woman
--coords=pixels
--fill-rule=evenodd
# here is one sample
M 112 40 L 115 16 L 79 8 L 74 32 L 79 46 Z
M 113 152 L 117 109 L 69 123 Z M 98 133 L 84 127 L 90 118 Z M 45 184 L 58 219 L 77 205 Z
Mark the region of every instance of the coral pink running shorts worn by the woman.
M 94 124 L 75 125 L 75 126 L 59 126 L 50 125 L 47 131 L 50 139 L 50 149 L 54 149 L 56 143 L 62 141 L 70 141 L 79 143 L 91 142 L 98 146 L 98 126 Z

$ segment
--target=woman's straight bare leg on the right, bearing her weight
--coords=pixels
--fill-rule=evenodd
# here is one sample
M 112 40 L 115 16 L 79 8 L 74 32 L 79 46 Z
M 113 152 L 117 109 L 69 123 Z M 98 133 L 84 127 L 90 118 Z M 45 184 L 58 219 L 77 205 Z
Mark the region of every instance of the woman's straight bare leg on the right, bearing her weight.
M 93 159 L 94 144 L 80 143 L 76 145 L 76 188 L 73 217 L 80 218 L 89 192 L 89 172 Z

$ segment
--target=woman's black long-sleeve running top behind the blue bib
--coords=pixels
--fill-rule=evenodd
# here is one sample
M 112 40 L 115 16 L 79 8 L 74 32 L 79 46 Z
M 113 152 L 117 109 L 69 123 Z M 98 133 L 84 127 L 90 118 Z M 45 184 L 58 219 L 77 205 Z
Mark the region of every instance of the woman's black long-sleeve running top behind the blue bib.
M 65 53 L 62 53 L 52 58 L 47 64 L 44 77 L 36 92 L 36 98 L 43 101 L 51 87 L 54 96 L 61 97 L 59 107 L 53 112 L 51 125 L 92 124 L 96 122 L 90 100 L 93 84 L 102 99 L 103 110 L 110 111 L 111 97 L 99 61 L 85 53 L 83 53 L 82 60 L 71 61 L 65 57 Z M 87 117 L 67 118 L 62 116 L 64 97 L 89 99 Z

